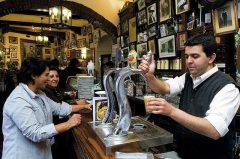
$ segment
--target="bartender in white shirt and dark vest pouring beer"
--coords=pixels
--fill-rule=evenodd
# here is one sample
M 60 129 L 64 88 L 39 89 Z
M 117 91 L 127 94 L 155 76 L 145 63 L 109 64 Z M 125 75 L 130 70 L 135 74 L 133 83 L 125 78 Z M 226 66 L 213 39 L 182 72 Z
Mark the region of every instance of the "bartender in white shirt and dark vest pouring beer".
M 155 61 L 146 56 L 139 65 L 157 93 L 181 93 L 179 108 L 162 98 L 150 98 L 153 114 L 176 122 L 174 138 L 183 159 L 232 159 L 235 144 L 234 116 L 240 104 L 234 81 L 214 64 L 217 44 L 211 35 L 196 35 L 185 43 L 187 73 L 161 81 L 154 76 Z

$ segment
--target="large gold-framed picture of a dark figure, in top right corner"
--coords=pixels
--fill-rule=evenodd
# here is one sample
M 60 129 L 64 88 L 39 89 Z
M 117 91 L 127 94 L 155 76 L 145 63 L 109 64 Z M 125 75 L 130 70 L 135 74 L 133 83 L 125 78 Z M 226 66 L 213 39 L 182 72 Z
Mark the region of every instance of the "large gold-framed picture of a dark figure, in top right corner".
M 215 35 L 228 34 L 238 30 L 237 3 L 228 1 L 212 11 Z

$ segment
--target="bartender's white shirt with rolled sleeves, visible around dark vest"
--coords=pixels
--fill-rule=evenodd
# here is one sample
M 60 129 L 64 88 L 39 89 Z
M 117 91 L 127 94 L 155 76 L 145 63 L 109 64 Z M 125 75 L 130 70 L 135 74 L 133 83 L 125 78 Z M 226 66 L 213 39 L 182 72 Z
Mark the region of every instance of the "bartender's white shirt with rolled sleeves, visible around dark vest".
M 193 88 L 197 87 L 208 77 L 218 71 L 217 66 L 200 77 L 193 78 Z M 185 75 L 166 81 L 170 86 L 170 95 L 181 93 L 185 84 Z M 228 132 L 228 126 L 240 105 L 240 94 L 234 84 L 224 86 L 213 98 L 205 118 L 216 128 L 221 136 Z

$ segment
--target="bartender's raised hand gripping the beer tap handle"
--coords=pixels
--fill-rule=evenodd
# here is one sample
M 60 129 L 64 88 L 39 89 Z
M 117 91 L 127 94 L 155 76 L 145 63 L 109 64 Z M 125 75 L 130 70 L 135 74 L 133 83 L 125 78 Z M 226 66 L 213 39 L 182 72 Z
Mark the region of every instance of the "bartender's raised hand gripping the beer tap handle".
M 143 70 L 146 76 L 149 76 L 149 75 L 154 74 L 155 60 L 152 55 L 151 56 L 152 59 L 150 60 L 150 64 L 149 64 L 146 58 L 147 58 L 147 56 L 143 55 L 142 61 L 141 61 L 140 65 L 138 66 L 138 68 Z

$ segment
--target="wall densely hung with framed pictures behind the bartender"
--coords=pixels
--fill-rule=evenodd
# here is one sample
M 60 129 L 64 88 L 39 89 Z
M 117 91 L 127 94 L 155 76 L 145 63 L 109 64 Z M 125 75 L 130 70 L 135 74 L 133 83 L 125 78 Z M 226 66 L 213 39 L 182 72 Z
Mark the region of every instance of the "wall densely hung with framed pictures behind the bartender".
M 218 8 L 202 6 L 200 0 L 128 2 L 128 7 L 119 13 L 118 45 L 125 56 L 127 48 L 135 49 L 139 60 L 151 50 L 158 72 L 180 75 L 186 71 L 184 43 L 187 39 L 207 32 L 220 36 L 221 45 L 225 45 L 229 34 L 238 30 L 236 6 L 237 0 L 227 1 Z

